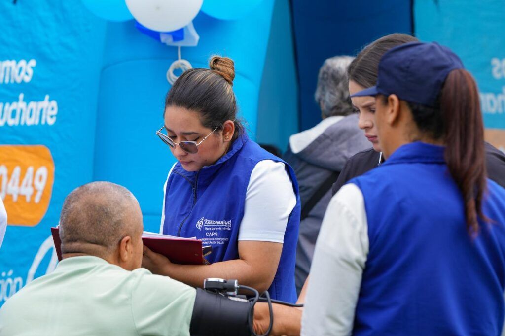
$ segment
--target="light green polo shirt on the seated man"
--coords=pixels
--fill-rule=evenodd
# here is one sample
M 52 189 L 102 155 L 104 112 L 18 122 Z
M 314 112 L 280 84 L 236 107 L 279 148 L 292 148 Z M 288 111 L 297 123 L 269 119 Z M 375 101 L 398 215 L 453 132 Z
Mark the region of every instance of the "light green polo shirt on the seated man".
M 0 309 L 0 335 L 189 335 L 196 291 L 145 268 L 62 260 Z

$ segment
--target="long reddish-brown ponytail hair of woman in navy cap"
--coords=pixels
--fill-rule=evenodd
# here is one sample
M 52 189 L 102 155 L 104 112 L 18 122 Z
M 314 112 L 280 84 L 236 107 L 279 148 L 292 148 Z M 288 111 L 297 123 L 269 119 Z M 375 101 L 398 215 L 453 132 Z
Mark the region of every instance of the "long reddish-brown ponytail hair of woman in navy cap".
M 488 219 L 482 212 L 486 191 L 484 123 L 474 78 L 466 70 L 452 70 L 435 107 L 407 103 L 420 131 L 433 139 L 444 139 L 449 173 L 463 194 L 467 230 L 476 235 L 479 231 L 477 217 Z

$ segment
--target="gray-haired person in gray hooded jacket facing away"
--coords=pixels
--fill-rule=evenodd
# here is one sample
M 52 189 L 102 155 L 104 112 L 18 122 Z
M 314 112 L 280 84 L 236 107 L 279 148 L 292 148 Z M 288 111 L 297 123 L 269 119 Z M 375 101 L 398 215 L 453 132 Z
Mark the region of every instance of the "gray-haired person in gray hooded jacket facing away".
M 309 274 L 319 228 L 331 199 L 331 185 L 349 157 L 370 147 L 358 127 L 357 110 L 347 88 L 347 67 L 353 59 L 336 56 L 324 62 L 315 93 L 323 120 L 293 134 L 283 157 L 298 179 L 302 206 L 295 269 L 298 293 Z

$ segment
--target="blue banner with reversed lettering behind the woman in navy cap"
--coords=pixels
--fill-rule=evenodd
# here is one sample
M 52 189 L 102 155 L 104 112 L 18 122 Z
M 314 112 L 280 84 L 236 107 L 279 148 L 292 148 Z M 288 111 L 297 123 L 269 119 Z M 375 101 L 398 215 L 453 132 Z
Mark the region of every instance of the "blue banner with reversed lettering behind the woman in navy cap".
M 486 140 L 505 150 L 505 6 L 501 0 L 422 0 L 416 36 L 455 51 L 477 80 Z

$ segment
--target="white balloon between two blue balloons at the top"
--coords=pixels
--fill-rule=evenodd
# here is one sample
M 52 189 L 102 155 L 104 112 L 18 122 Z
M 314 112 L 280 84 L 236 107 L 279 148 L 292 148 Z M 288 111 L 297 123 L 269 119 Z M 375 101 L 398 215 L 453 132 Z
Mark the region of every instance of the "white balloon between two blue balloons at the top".
M 173 31 L 189 24 L 204 0 L 126 0 L 141 25 L 156 31 Z

